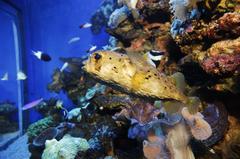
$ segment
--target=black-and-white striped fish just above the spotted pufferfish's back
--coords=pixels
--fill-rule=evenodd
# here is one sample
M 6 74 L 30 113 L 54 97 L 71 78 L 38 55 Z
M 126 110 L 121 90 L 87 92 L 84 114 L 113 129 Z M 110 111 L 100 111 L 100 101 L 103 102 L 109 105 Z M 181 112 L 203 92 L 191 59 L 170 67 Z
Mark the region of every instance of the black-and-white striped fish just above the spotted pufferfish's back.
M 157 68 L 161 62 L 161 59 L 164 56 L 164 52 L 158 50 L 151 50 L 147 52 L 146 56 L 147 62 Z

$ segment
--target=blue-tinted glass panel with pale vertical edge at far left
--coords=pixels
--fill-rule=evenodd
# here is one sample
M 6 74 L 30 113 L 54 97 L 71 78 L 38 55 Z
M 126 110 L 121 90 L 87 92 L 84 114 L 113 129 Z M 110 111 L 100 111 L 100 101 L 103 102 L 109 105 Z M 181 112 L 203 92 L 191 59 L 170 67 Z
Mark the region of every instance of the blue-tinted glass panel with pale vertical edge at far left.
M 18 79 L 21 63 L 18 29 L 15 9 L 0 2 L 0 149 L 22 131 L 22 111 L 18 109 L 22 105 L 22 82 Z

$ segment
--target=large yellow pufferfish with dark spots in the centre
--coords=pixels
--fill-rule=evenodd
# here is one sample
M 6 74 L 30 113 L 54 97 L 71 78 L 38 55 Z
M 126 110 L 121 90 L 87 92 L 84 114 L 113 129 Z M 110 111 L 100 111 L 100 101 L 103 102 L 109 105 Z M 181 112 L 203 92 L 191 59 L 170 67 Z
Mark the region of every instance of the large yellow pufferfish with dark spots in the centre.
M 83 70 L 126 93 L 153 99 L 186 101 L 172 78 L 159 74 L 153 67 L 134 63 L 126 54 L 97 51 L 84 62 Z

